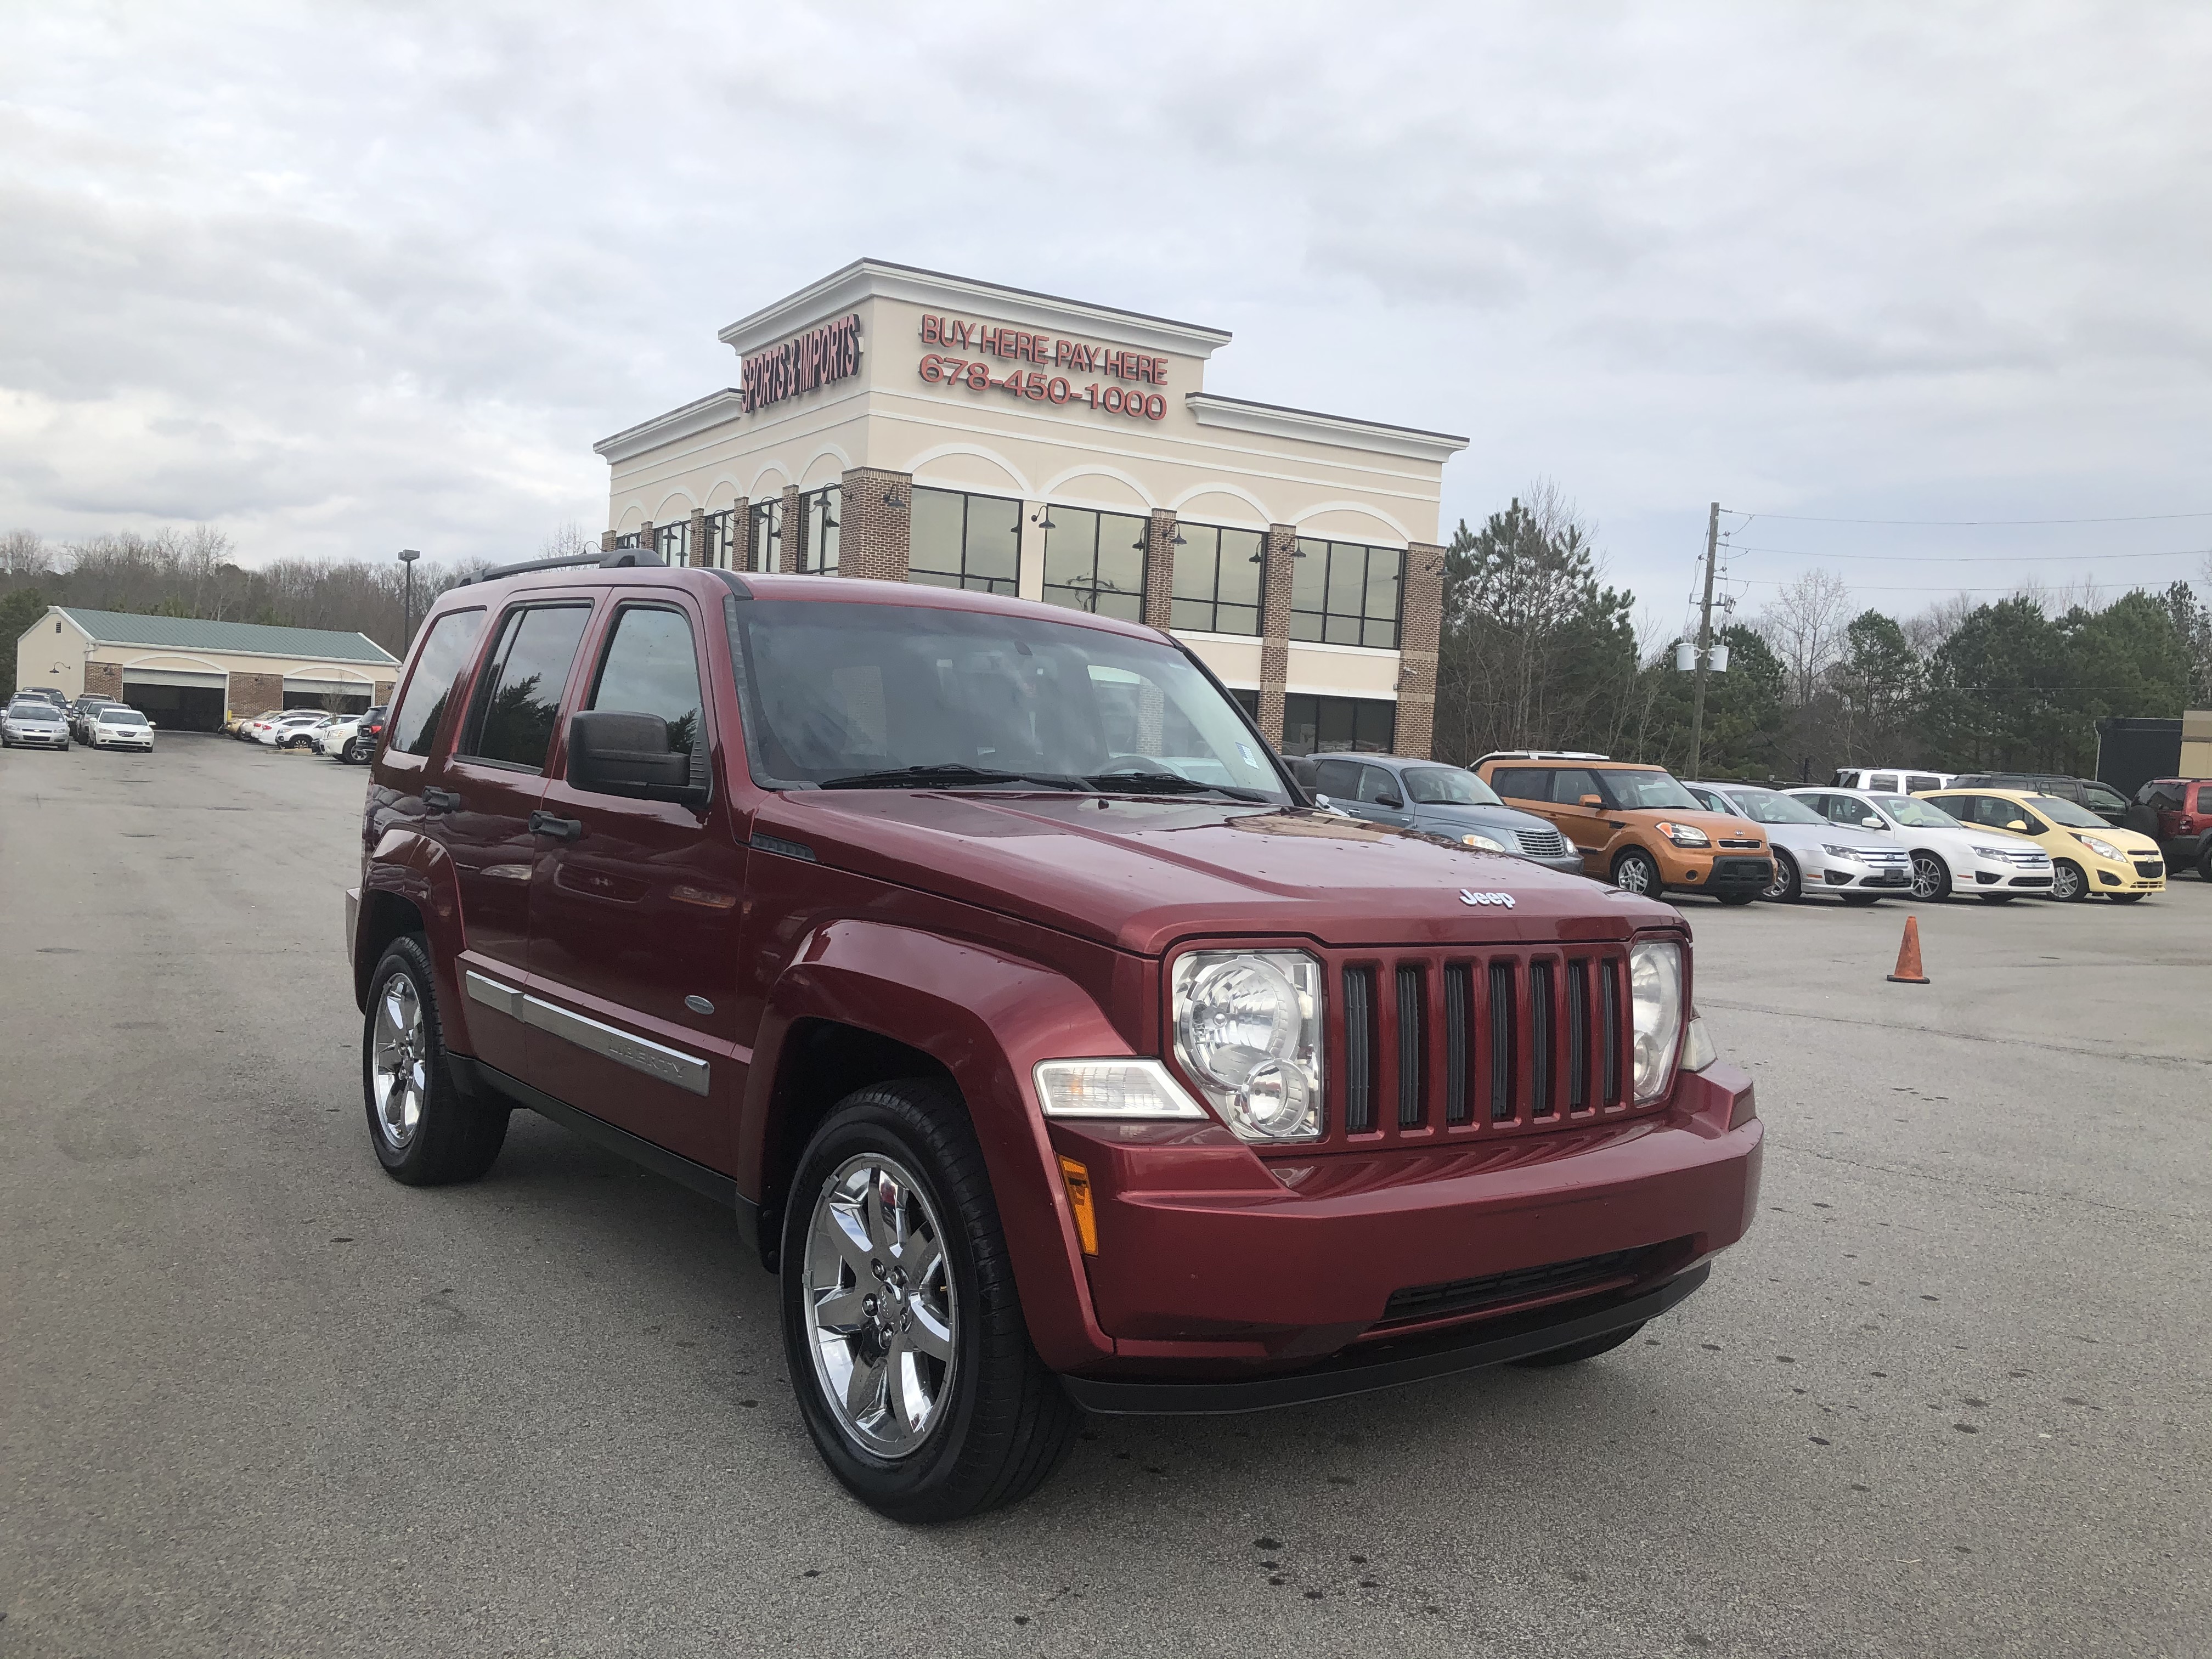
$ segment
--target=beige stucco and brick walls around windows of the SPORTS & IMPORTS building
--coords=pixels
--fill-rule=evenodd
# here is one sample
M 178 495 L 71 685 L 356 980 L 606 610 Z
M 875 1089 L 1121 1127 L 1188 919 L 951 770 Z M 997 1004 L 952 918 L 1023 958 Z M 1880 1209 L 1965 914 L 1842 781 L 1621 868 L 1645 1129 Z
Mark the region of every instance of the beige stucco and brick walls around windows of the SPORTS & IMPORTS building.
M 1396 732 L 1400 748 L 1418 739 L 1427 752 L 1438 502 L 1444 460 L 1464 438 L 1217 396 L 1206 372 L 1230 343 L 1223 330 L 872 259 L 732 323 L 721 341 L 741 363 L 790 361 L 787 343 L 827 330 L 841 334 L 807 389 L 730 387 L 595 445 L 611 467 L 608 544 L 841 484 L 843 573 L 900 577 L 909 491 L 945 489 L 1022 504 L 1018 591 L 1048 597 L 1053 509 L 1128 513 L 1155 526 L 1144 619 L 1157 626 L 1168 626 L 1172 564 L 1159 566 L 1177 557 L 1179 526 L 1270 538 L 1254 564 L 1305 557 L 1312 540 L 1301 538 L 1398 549 L 1400 626 L 1387 648 L 1292 637 L 1310 624 L 1290 615 L 1290 566 L 1270 568 L 1256 633 L 1175 633 L 1228 686 L 1256 695 L 1279 741 L 1285 697 L 1411 697 L 1418 719 L 1400 712 Z M 949 365 L 960 378 L 947 380 Z M 664 551 L 748 557 L 743 542 L 719 557 L 684 538 Z

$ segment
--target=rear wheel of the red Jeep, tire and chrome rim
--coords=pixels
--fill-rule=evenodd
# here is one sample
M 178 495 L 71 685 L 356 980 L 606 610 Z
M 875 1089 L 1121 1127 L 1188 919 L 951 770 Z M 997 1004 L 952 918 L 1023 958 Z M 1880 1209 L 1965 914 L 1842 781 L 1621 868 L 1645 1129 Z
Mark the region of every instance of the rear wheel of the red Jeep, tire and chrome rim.
M 392 940 L 369 975 L 361 1099 L 376 1161 L 407 1186 L 473 1181 L 507 1141 L 511 1108 L 471 1099 L 453 1084 L 429 945 L 420 933 Z

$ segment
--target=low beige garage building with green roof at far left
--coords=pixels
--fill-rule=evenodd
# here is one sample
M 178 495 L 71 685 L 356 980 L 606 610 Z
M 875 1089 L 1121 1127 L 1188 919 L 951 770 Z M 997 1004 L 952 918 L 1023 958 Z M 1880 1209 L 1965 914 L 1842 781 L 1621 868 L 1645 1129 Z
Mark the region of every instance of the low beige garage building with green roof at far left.
M 259 622 L 139 617 L 55 604 L 15 641 L 15 684 L 71 699 L 119 697 L 155 726 L 212 732 L 226 710 L 327 708 L 358 714 L 392 701 L 398 659 L 363 633 Z

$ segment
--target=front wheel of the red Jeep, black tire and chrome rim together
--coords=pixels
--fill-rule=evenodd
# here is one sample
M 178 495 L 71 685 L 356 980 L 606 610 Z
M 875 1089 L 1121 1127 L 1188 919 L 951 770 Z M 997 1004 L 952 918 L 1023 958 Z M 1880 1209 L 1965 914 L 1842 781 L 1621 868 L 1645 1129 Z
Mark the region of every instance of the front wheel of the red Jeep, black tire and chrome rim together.
M 942 1522 L 1026 1498 L 1082 1413 L 1029 1340 L 958 1095 L 847 1095 L 783 1217 L 783 1345 L 823 1462 L 869 1509 Z

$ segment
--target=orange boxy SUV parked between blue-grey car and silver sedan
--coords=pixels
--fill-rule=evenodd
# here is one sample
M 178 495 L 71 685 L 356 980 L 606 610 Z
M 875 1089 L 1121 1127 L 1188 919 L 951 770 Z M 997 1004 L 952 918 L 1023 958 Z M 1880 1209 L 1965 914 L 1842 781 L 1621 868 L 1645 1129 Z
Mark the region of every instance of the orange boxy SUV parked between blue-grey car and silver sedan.
M 1750 905 L 1774 880 L 1767 834 L 1705 812 L 1661 765 L 1564 750 L 1506 750 L 1469 768 L 1506 803 L 1551 818 L 1586 876 L 1657 898 L 1668 887 Z

